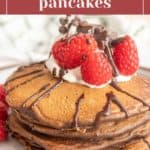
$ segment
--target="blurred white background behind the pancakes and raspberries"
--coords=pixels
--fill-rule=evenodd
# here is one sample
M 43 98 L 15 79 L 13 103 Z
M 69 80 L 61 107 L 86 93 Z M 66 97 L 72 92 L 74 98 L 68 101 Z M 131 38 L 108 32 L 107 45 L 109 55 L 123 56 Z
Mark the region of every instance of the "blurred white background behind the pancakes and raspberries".
M 51 45 L 59 35 L 60 15 L 0 16 L 0 83 L 12 66 L 48 58 Z M 118 34 L 134 37 L 141 66 L 150 68 L 150 15 L 81 15 L 92 23 L 100 23 Z M 11 67 L 4 70 L 5 67 Z

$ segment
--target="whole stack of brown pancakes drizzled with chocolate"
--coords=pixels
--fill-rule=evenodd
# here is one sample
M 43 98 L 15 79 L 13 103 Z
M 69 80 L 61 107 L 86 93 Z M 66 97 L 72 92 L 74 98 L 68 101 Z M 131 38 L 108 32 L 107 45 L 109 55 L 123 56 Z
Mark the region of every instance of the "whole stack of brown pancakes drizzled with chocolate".
M 54 78 L 44 62 L 5 84 L 8 126 L 29 150 L 149 150 L 150 78 L 88 88 Z

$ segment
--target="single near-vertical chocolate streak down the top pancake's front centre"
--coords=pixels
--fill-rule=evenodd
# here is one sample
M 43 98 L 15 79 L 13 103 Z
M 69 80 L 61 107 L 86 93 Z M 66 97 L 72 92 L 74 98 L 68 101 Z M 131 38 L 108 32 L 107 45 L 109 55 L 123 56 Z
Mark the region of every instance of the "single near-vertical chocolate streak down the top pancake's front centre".
M 76 109 L 75 109 L 75 114 L 74 114 L 74 117 L 73 117 L 73 127 L 75 127 L 75 129 L 78 129 L 79 128 L 79 111 L 80 111 L 80 104 L 82 102 L 84 98 L 84 94 L 81 94 L 80 97 L 77 99 L 75 105 L 76 105 Z

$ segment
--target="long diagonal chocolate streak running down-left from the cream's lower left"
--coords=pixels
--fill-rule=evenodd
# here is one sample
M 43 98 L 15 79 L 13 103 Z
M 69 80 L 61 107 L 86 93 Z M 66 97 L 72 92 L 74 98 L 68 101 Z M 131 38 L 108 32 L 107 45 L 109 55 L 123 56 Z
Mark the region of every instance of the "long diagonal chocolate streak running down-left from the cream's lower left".
M 31 104 L 30 107 L 36 106 L 40 102 L 41 99 L 43 99 L 44 97 L 48 96 L 55 88 L 57 88 L 62 83 L 63 83 L 63 80 L 57 81 L 53 86 L 51 86 L 50 88 L 48 88 L 39 97 L 37 97 L 35 99 L 35 101 Z

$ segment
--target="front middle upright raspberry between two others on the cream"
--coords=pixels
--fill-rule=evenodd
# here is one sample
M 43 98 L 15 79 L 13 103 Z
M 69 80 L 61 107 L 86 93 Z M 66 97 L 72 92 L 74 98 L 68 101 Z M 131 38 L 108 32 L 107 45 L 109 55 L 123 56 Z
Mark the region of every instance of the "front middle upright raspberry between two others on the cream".
M 91 53 L 81 65 L 82 78 L 93 85 L 101 85 L 112 79 L 112 67 L 103 53 Z

